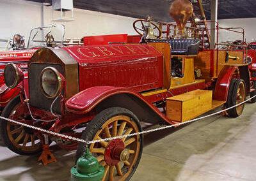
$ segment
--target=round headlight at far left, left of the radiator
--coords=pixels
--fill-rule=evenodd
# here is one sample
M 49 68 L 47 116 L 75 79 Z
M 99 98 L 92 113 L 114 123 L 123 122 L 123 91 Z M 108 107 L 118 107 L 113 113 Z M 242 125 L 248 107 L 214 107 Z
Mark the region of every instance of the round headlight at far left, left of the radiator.
M 4 68 L 4 82 L 10 89 L 16 87 L 24 78 L 24 74 L 15 64 L 7 64 Z

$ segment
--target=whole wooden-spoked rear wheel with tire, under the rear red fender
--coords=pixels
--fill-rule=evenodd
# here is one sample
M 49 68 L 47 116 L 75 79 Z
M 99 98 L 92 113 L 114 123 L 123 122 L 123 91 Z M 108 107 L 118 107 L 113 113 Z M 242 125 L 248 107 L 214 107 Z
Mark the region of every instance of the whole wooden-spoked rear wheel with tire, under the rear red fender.
M 230 82 L 230 87 L 228 90 L 228 100 L 227 100 L 227 108 L 238 105 L 245 101 L 246 98 L 246 88 L 245 83 L 241 79 L 232 79 Z M 232 108 L 227 110 L 227 113 L 230 117 L 239 117 L 243 113 L 244 104 L 239 105 L 236 108 Z

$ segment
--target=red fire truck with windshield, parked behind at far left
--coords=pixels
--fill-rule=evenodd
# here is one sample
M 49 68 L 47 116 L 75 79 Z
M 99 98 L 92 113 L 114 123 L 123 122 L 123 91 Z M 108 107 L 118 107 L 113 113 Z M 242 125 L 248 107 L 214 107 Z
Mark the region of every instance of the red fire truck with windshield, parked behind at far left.
M 63 46 L 64 35 L 64 25 L 51 25 L 31 29 L 26 47 L 24 38 L 19 34 L 15 34 L 10 41 L 4 41 L 8 44 L 5 46 L 7 51 L 0 52 L 0 110 L 3 110 L 4 106 L 22 89 L 21 84 L 12 89 L 4 84 L 3 72 L 6 64 L 16 64 L 27 75 L 28 61 L 36 50 L 40 47 Z M 24 76 L 24 78 L 28 78 L 28 76 Z

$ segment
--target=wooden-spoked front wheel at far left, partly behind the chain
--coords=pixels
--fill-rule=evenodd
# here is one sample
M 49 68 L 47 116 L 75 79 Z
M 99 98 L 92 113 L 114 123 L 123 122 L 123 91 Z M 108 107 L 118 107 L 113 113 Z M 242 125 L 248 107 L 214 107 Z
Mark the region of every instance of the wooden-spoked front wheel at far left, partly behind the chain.
M 17 96 L 4 108 L 2 116 L 28 124 L 28 118 L 18 110 L 19 106 L 20 98 Z M 1 120 L 1 136 L 6 146 L 16 154 L 31 155 L 42 150 L 41 137 L 28 127 Z

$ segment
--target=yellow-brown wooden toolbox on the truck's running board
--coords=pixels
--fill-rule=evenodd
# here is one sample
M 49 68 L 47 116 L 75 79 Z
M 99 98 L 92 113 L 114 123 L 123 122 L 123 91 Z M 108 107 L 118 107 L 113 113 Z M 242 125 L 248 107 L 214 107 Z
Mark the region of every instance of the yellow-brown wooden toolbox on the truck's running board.
M 211 110 L 212 91 L 195 90 L 173 96 L 166 101 L 166 116 L 170 120 L 185 122 Z

